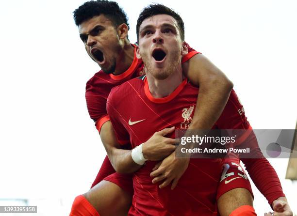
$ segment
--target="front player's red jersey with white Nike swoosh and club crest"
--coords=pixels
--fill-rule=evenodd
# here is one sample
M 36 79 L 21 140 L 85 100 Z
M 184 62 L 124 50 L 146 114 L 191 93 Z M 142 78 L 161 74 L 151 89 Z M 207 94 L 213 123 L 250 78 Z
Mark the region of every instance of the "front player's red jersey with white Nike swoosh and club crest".
M 185 79 L 169 96 L 154 98 L 149 92 L 146 78 L 139 77 L 112 90 L 107 101 L 107 112 L 118 141 L 121 144 L 130 142 L 132 147 L 135 147 L 148 140 L 156 131 L 166 127 L 187 128 L 194 115 L 197 96 L 198 88 Z M 242 108 L 236 93 L 232 90 L 228 103 L 214 128 L 250 128 Z M 185 118 L 183 112 L 189 110 L 191 110 L 189 115 L 191 118 Z M 171 137 L 174 135 L 172 134 Z M 222 172 L 219 160 L 191 159 L 188 169 L 181 176 L 174 190 L 168 186 L 160 189 L 158 184 L 151 183 L 152 178 L 149 177 L 149 173 L 156 162 L 147 161 L 133 174 L 134 195 L 129 214 L 133 216 L 217 215 L 216 196 L 219 197 L 222 193 L 238 187 L 234 187 L 237 179 L 232 184 L 225 185 L 226 182 L 231 181 L 228 179 L 219 184 L 222 188 L 218 193 L 221 194 L 216 194 Z M 241 182 L 238 183 L 239 185 L 245 185 L 242 183 L 246 181 L 244 178 L 238 181 Z M 249 189 L 250 186 L 245 188 Z

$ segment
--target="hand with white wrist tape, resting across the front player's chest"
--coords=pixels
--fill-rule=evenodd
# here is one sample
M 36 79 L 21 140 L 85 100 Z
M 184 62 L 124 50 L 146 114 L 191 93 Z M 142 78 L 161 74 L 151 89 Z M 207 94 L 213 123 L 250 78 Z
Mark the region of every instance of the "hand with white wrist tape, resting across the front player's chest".
M 154 133 L 148 141 L 142 145 L 142 154 L 147 160 L 162 160 L 175 150 L 178 139 L 166 138 L 167 134 L 174 131 L 175 127 L 165 128 Z

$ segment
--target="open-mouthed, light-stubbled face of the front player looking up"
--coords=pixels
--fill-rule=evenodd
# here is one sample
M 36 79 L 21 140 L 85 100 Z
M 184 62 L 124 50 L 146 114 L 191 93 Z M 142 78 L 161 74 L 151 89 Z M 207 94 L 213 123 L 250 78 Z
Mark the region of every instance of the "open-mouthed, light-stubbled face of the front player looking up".
M 181 41 L 177 21 L 170 15 L 154 15 L 146 18 L 139 28 L 139 48 L 141 58 L 156 79 L 165 79 L 181 63 L 181 56 L 187 49 Z

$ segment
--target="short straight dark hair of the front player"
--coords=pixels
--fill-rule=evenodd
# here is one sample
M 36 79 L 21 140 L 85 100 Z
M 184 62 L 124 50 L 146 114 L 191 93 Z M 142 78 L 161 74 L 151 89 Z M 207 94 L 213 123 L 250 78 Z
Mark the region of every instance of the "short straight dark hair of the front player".
M 136 25 L 137 41 L 139 42 L 139 28 L 143 20 L 145 20 L 148 17 L 159 15 L 159 14 L 170 15 L 173 18 L 175 18 L 175 20 L 178 23 L 179 30 L 181 32 L 181 40 L 184 40 L 184 24 L 181 19 L 181 16 L 163 4 L 150 4 L 142 10 L 142 12 L 140 13 L 137 19 L 137 25 Z

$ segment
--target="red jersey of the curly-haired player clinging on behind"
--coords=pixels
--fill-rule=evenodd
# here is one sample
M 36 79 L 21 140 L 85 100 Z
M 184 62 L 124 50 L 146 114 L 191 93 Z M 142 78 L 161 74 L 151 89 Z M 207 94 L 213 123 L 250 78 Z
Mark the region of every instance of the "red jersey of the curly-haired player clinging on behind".
M 132 44 L 132 46 L 136 47 L 136 45 Z M 188 46 L 188 54 L 182 58 L 182 62 L 188 61 L 197 52 L 193 48 Z M 106 100 L 112 88 L 118 86 L 127 80 L 130 80 L 134 77 L 139 77 L 143 75 L 143 62 L 136 58 L 136 49 L 134 49 L 134 59 L 131 66 L 128 68 L 127 71 L 120 75 L 113 75 L 113 74 L 106 74 L 102 70 L 96 73 L 86 84 L 86 91 L 85 91 L 85 99 L 88 108 L 89 115 L 91 119 L 94 120 L 96 128 L 100 131 L 101 126 L 103 123 L 109 121 L 109 117 L 107 116 L 106 112 Z M 92 186 L 97 185 L 101 180 L 105 177 L 109 176 L 110 174 L 114 173 L 115 170 L 113 169 L 108 157 L 106 156 L 103 164 L 96 176 L 95 181 L 93 182 Z M 111 181 L 111 180 L 110 180 Z M 126 191 L 130 192 L 131 189 L 127 189 L 129 185 L 128 183 L 123 183 L 122 185 L 119 184 L 119 181 L 114 182 L 115 184 L 119 185 Z

